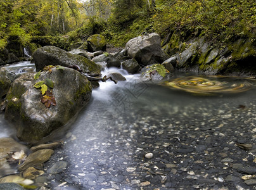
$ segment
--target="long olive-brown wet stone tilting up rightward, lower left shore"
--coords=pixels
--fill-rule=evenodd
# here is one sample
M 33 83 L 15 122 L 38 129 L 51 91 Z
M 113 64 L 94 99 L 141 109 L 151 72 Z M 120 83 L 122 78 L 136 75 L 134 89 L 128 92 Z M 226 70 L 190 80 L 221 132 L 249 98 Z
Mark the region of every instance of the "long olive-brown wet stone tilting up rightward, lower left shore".
M 41 165 L 42 163 L 48 161 L 53 153 L 54 151 L 52 149 L 40 149 L 35 151 L 27 157 L 25 162 L 23 162 L 20 167 L 18 167 L 18 170 L 24 171 L 29 167 Z

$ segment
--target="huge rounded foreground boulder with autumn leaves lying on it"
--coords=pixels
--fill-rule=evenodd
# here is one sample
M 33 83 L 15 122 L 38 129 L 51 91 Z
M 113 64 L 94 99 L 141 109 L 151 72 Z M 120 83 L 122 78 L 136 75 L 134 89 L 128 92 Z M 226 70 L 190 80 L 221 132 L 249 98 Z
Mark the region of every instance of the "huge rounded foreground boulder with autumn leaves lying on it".
M 17 137 L 29 143 L 67 124 L 88 103 L 92 89 L 89 80 L 72 68 L 52 67 L 41 72 L 37 80 L 34 75 L 34 72 L 25 73 L 13 82 L 6 95 L 4 115 L 15 124 Z M 34 87 L 40 81 L 48 85 L 54 97 L 51 94 L 42 97 L 39 88 Z

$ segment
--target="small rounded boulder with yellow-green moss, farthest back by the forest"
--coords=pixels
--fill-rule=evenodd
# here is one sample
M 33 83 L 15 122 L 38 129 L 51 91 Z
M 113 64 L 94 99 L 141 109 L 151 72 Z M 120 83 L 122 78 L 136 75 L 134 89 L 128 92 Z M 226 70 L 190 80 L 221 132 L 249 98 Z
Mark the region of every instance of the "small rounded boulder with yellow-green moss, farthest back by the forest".
M 106 50 L 106 39 L 103 35 L 94 34 L 88 37 L 88 51 Z

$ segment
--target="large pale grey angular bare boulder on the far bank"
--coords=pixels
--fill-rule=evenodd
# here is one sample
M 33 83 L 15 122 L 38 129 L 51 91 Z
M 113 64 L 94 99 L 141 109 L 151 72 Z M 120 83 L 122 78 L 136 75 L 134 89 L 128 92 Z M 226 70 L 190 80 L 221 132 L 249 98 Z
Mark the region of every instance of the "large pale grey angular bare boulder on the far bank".
M 142 66 L 162 63 L 169 58 L 161 47 L 160 35 L 156 33 L 131 39 L 125 46 L 125 52 Z

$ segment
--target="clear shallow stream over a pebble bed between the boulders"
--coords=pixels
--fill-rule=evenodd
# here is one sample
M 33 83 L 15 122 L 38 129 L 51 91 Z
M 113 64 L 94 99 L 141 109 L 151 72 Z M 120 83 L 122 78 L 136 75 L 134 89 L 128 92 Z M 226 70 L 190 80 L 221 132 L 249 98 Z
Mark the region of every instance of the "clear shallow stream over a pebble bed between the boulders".
M 24 70 L 12 68 L 15 73 Z M 241 179 L 245 174 L 234 167 L 255 167 L 254 80 L 239 79 L 245 85 L 235 85 L 231 77 L 214 78 L 217 84 L 231 83 L 233 89 L 198 94 L 182 91 L 181 83 L 177 89 L 144 82 L 125 70 L 108 71 L 120 72 L 127 80 L 100 82 L 93 90 L 89 104 L 58 139 L 63 146 L 44 164 L 47 170 L 61 160 L 68 163 L 67 168 L 42 176 L 42 185 L 61 190 L 256 187 L 246 184 Z M 195 86 L 191 76 L 176 73 L 174 79 L 188 77 Z M 243 87 L 244 91 L 234 93 Z M 3 114 L 0 130 L 0 137 L 13 135 Z M 242 149 L 238 143 L 252 144 L 252 149 Z M 146 153 L 153 153 L 153 158 L 145 158 Z

